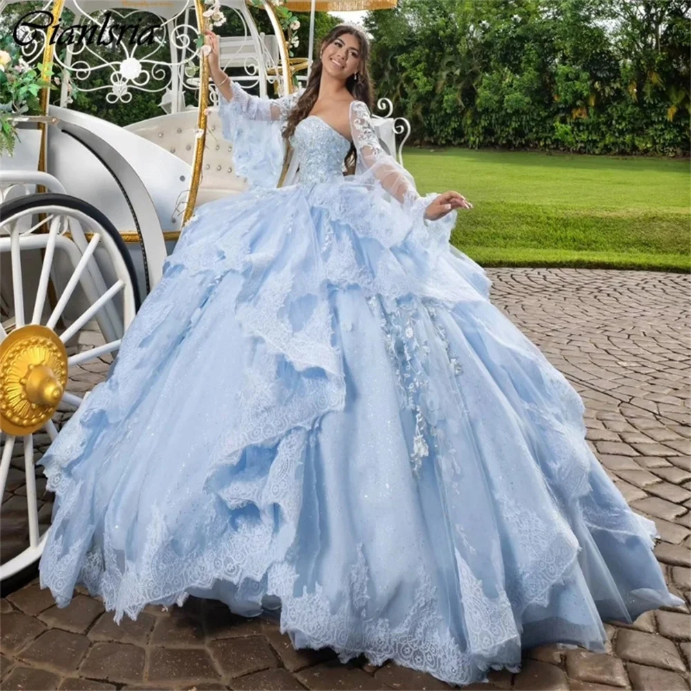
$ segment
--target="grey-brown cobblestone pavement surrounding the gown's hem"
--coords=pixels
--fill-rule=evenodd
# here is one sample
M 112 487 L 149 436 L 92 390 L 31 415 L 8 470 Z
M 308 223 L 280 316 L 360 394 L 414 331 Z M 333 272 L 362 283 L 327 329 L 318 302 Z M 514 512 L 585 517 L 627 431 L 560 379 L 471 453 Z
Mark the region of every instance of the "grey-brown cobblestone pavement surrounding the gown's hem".
M 488 269 L 493 302 L 568 377 L 587 407 L 587 438 L 632 507 L 650 516 L 672 591 L 691 596 L 689 276 L 580 269 Z M 88 386 L 104 367 L 77 372 Z M 101 370 L 101 371 L 98 371 Z M 15 470 L 18 470 L 15 468 Z M 16 515 L 21 471 L 3 503 Z M 8 506 L 9 504 L 9 506 Z M 46 507 L 50 502 L 46 503 Z M 23 506 L 21 511 L 23 511 Z M 46 509 L 44 518 L 48 516 Z M 45 522 L 45 520 L 44 520 Z M 213 601 L 149 607 L 117 627 L 81 591 L 57 609 L 36 582 L 1 600 L 1 688 L 441 689 L 395 665 L 340 665 L 296 652 L 270 619 L 244 620 Z M 688 606 L 607 624 L 607 654 L 544 647 L 487 691 L 689 688 Z

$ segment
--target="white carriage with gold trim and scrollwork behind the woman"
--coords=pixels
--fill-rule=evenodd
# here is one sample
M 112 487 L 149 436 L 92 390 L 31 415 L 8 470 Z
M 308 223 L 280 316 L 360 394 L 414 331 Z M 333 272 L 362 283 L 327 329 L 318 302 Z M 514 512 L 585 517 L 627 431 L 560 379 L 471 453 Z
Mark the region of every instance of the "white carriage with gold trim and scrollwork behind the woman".
M 0 12 L 17 1 L 0 0 Z M 106 10 L 153 13 L 169 61 L 144 46 L 102 57 L 87 44 L 59 58 L 46 32 L 23 49 L 29 63 L 53 66 L 61 91 L 50 104 L 44 90 L 43 115 L 17 118 L 15 155 L 0 159 L 0 580 L 35 564 L 43 549 L 50 506 L 37 492 L 37 457 L 105 375 L 193 210 L 245 189 L 198 48 L 214 1 L 240 26 L 221 41 L 224 68 L 263 97 L 290 93 L 310 64 L 290 57 L 274 0 L 50 0 L 43 9 L 54 23 L 64 10 L 85 26 L 102 23 Z M 396 0 L 287 2 L 311 10 L 311 55 L 315 9 L 385 8 Z M 272 34 L 259 32 L 257 7 Z M 95 73 L 108 76 L 106 86 L 89 86 Z M 164 114 L 120 127 L 68 108 L 70 84 L 104 88 L 113 103 L 158 91 Z M 391 117 L 388 100 L 378 106 L 386 110 L 375 117 L 380 139 L 400 158 L 409 126 Z

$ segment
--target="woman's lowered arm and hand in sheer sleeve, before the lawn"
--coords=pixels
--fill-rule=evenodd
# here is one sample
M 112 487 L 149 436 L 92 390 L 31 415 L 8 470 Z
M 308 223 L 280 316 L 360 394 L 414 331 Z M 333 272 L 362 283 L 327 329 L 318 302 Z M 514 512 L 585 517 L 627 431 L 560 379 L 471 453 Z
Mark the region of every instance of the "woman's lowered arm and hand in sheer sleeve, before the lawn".
M 361 101 L 350 105 L 350 131 L 361 171 L 377 178 L 381 186 L 406 208 L 417 207 L 426 201 L 417 193 L 410 173 L 381 148 L 370 111 Z M 458 192 L 448 191 L 435 196 L 432 202 L 426 202 L 424 218 L 439 220 L 454 209 L 472 208 L 473 205 Z

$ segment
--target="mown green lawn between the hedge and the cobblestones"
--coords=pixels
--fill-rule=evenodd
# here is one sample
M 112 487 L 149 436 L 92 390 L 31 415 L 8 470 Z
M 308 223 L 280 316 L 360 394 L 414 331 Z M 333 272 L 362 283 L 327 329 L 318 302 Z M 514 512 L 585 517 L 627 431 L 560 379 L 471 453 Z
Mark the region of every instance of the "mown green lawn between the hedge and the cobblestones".
M 421 193 L 460 191 L 451 238 L 482 265 L 691 269 L 689 162 L 412 149 Z

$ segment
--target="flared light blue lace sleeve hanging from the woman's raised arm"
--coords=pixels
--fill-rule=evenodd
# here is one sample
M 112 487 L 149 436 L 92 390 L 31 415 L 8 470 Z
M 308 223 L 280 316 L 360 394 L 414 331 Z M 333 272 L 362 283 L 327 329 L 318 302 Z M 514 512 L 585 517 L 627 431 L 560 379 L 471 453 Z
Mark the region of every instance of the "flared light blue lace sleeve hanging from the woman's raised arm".
M 303 90 L 267 99 L 247 93 L 235 82 L 231 89 L 231 100 L 219 92 L 218 114 L 223 137 L 233 146 L 236 173 L 252 187 L 276 187 L 285 157 L 283 126 Z

